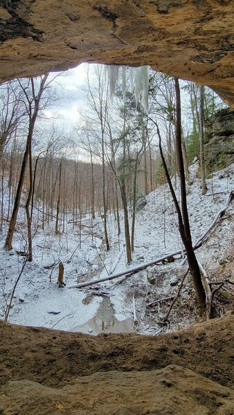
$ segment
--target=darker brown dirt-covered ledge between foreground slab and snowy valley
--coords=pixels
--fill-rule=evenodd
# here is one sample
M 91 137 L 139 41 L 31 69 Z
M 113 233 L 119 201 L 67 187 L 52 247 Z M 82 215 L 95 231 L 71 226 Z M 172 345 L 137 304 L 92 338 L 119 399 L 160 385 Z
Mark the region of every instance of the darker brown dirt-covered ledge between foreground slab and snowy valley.
M 234 316 L 228 315 L 167 335 L 93 336 L 0 320 L 0 385 L 28 379 L 63 387 L 98 371 L 152 371 L 179 365 L 231 387 L 233 323 Z

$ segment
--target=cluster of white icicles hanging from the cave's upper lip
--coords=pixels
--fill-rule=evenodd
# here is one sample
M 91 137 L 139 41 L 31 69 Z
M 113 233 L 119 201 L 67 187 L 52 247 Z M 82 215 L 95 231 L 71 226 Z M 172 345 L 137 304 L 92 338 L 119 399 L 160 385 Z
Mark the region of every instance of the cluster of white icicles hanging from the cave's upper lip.
M 136 103 L 141 102 L 145 109 L 145 113 L 147 114 L 149 110 L 149 67 L 141 66 L 138 68 L 129 68 L 129 66 L 107 65 L 105 70 L 107 80 L 109 81 L 109 90 L 111 97 L 114 95 L 118 77 L 120 75 L 122 78 L 122 93 L 123 97 L 125 98 L 127 71 L 129 72 L 132 89 L 134 89 Z

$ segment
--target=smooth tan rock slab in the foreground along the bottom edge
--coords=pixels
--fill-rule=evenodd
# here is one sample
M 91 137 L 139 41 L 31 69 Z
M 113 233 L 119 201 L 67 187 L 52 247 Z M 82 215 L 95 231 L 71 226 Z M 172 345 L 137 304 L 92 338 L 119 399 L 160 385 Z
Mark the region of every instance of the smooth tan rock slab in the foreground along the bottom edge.
M 3 414 L 232 414 L 234 391 L 183 367 L 96 373 L 55 389 L 30 380 L 0 388 Z

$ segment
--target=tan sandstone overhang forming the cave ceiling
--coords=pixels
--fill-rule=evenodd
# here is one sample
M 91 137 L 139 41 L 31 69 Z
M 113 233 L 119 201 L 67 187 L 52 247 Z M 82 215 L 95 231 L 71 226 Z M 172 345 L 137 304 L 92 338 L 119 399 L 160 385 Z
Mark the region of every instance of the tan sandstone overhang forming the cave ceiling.
M 2 0 L 0 80 L 147 64 L 234 106 L 233 10 L 229 0 Z

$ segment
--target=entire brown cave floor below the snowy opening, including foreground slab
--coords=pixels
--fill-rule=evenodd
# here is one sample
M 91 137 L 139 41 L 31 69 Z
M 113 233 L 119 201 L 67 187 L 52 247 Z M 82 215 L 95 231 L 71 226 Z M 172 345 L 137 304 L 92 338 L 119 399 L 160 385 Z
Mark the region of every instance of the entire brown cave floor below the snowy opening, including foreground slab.
M 1 322 L 0 414 L 231 415 L 233 322 L 156 337 Z

